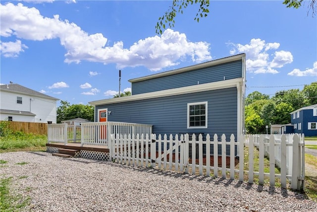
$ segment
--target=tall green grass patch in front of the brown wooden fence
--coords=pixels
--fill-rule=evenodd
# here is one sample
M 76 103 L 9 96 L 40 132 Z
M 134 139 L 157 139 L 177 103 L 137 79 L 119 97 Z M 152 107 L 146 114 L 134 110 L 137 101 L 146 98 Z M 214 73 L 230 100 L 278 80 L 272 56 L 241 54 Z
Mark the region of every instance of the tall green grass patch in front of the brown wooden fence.
M 25 134 L 14 132 L 1 137 L 0 153 L 9 151 L 37 151 L 44 150 L 47 143 L 46 135 Z

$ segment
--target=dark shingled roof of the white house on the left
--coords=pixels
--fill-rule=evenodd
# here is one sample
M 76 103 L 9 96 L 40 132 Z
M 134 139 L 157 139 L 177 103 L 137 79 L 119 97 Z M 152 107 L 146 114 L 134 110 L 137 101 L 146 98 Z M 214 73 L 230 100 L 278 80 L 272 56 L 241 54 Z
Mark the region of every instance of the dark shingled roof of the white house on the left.
M 52 99 L 52 100 L 59 100 L 52 96 L 46 95 L 44 93 L 38 92 L 36 90 L 32 90 L 30 88 L 24 87 L 19 84 L 14 84 L 14 83 L 0 85 L 0 90 L 12 92 L 12 93 L 21 93 L 21 94 L 27 94 L 32 96 L 38 96 L 38 97 L 43 97 L 43 98 Z

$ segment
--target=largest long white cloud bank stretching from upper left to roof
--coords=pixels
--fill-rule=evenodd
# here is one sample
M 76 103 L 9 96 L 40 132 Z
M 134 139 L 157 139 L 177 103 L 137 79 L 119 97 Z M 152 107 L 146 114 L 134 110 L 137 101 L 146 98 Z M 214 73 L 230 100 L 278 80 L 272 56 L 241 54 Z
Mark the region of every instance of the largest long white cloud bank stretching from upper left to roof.
M 117 68 L 145 66 L 152 71 L 177 65 L 177 60 L 191 58 L 193 62 L 211 60 L 210 44 L 191 42 L 186 35 L 167 29 L 163 34 L 141 39 L 130 48 L 123 48 L 118 41 L 106 46 L 107 38 L 101 33 L 89 35 L 75 23 L 44 17 L 36 8 L 7 3 L 1 6 L 0 34 L 33 41 L 58 38 L 66 49 L 66 63 L 82 60 L 104 64 L 114 63 Z

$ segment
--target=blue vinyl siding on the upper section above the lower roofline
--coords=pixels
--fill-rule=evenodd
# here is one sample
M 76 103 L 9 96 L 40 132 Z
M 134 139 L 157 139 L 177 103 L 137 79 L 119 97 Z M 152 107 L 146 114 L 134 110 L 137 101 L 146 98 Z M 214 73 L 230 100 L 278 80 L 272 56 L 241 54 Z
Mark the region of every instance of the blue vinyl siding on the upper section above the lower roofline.
M 225 79 L 242 77 L 242 61 L 211 66 L 204 69 L 186 71 L 173 75 L 162 76 L 132 83 L 132 94 L 141 94 L 179 88 L 191 85 L 204 84 Z

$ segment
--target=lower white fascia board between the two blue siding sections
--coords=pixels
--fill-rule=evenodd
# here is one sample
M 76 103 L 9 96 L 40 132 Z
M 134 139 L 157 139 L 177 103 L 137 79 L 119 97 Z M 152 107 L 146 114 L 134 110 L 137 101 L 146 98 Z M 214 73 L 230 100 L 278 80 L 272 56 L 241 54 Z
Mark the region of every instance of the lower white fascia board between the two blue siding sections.
M 153 98 L 159 98 L 164 96 L 174 96 L 174 95 L 187 94 L 187 93 L 196 93 L 196 92 L 202 92 L 202 91 L 208 91 L 208 90 L 217 90 L 217 89 L 223 89 L 223 88 L 229 88 L 229 87 L 236 87 L 237 83 L 240 83 L 242 85 L 243 80 L 244 80 L 243 78 L 228 79 L 223 81 L 210 82 L 210 83 L 199 84 L 199 85 L 191 85 L 186 87 L 173 88 L 173 89 L 155 91 L 150 93 L 141 93 L 137 95 L 123 96 L 120 98 L 102 99 L 102 100 L 92 101 L 88 103 L 94 106 L 98 106 L 103 104 L 113 104 L 113 103 L 119 103 L 119 102 L 137 101 L 142 99 L 153 99 Z

